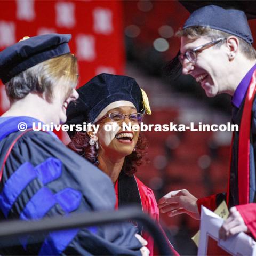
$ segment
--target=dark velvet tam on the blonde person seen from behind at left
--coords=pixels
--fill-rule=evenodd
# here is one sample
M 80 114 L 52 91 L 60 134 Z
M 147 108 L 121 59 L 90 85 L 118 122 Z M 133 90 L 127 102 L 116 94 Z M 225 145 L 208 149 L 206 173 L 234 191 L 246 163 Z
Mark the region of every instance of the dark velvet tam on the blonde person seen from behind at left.
M 70 52 L 70 34 L 27 37 L 0 52 L 0 78 L 8 82 L 20 72 L 45 60 Z

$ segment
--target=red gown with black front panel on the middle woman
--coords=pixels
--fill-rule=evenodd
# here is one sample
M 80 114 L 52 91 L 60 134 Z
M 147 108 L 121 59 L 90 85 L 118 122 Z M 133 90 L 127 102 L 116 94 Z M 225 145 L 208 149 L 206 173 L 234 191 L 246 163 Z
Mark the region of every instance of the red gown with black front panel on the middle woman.
M 143 184 L 135 175 L 129 177 L 121 171 L 121 174 L 115 183 L 115 192 L 116 209 L 125 205 L 137 204 L 141 207 L 141 211 L 148 214 L 153 220 L 155 220 L 158 228 L 162 230 L 162 227 L 159 224 L 159 209 L 157 207 L 155 195 L 153 191 Z M 140 235 L 148 241 L 147 248 L 150 251 L 150 255 L 158 255 L 157 247 L 154 247 L 153 238 L 143 231 L 143 227 L 134 222 L 133 224 L 138 227 Z M 170 244 L 170 249 L 173 252 L 173 255 L 179 255 L 174 250 L 164 231 L 163 235 L 165 236 L 167 243 Z

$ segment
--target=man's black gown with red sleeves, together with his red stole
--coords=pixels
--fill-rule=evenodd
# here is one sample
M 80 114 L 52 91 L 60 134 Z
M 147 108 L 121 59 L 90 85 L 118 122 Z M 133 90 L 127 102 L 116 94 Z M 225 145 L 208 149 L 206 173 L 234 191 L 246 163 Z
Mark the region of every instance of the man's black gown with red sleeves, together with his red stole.
M 239 131 L 233 133 L 230 177 L 228 186 L 229 193 L 228 195 L 226 193 L 212 195 L 209 197 L 198 199 L 197 201 L 199 211 L 201 209 L 201 205 L 204 205 L 214 211 L 223 199 L 227 201 L 229 208 L 236 206 L 236 209 L 241 214 L 245 225 L 251 231 L 254 238 L 256 238 L 256 204 L 254 203 L 256 201 L 256 100 L 254 95 L 256 90 L 255 83 L 256 71 L 254 71 L 252 75 L 249 89 L 247 90 L 247 94 L 241 106 L 239 108 L 235 106 L 233 107 L 232 121 L 234 124 L 239 125 Z M 252 103 L 252 105 L 250 105 L 250 102 Z M 245 115 L 245 113 L 247 114 Z M 242 122 L 243 117 L 244 123 Z M 247 130 L 248 137 L 246 136 Z M 243 155 L 240 155 L 239 144 L 242 142 L 244 143 L 244 145 L 247 146 L 241 148 L 240 151 Z M 244 162 L 245 164 L 243 163 L 243 165 L 241 165 L 242 168 L 239 170 L 239 172 L 238 166 L 241 159 L 243 159 L 243 161 L 244 159 L 246 159 L 246 162 Z M 241 180 L 239 180 L 239 177 L 241 178 Z M 244 202 L 241 203 L 240 200 L 243 200 Z

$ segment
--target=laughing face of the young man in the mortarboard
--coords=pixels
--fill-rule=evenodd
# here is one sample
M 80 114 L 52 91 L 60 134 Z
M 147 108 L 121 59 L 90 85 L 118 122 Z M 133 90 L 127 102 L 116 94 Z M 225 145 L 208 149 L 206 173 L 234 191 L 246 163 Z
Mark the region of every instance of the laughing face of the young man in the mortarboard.
M 181 37 L 180 52 L 185 53 L 188 49 L 194 49 L 208 42 L 211 42 L 211 39 L 203 36 L 194 39 Z M 185 58 L 182 73 L 193 76 L 201 84 L 206 95 L 214 97 L 228 92 L 229 66 L 227 49 L 223 44 L 220 47 L 209 47 L 198 52 L 195 64 Z

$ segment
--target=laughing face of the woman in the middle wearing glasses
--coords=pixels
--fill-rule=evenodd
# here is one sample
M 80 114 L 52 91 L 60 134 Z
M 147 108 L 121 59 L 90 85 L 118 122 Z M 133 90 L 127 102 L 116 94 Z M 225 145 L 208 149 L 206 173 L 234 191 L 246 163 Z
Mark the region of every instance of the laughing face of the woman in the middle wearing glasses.
M 118 106 L 107 111 L 109 113 L 122 113 L 124 115 L 130 115 L 137 113 L 134 105 L 127 101 L 126 106 Z M 105 125 L 113 125 L 109 117 L 103 119 L 99 125 L 99 131 L 97 133 L 99 142 L 99 155 L 105 154 L 111 157 L 125 157 L 130 155 L 136 146 L 139 137 L 139 131 L 122 131 L 122 123 L 128 124 L 131 122 L 127 117 L 124 121 L 117 123 L 116 129 L 111 131 L 105 130 Z M 131 122 L 131 126 L 136 123 Z M 138 124 L 138 123 L 137 123 Z

